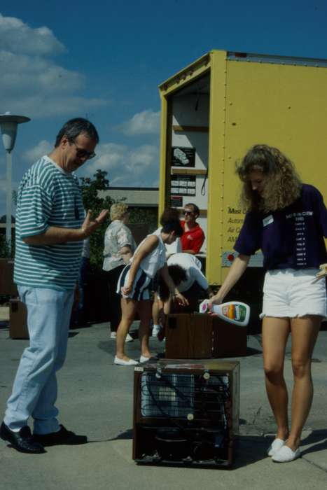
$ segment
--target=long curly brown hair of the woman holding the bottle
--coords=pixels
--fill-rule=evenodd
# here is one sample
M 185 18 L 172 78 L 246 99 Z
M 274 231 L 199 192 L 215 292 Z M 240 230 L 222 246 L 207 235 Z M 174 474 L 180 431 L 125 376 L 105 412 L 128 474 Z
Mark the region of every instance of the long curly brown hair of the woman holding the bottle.
M 252 146 L 243 160 L 236 164 L 236 172 L 243 182 L 240 204 L 245 211 L 276 211 L 300 197 L 302 182 L 293 163 L 273 146 Z M 262 172 L 265 176 L 261 196 L 251 188 L 251 172 Z

